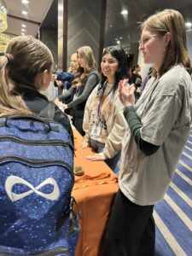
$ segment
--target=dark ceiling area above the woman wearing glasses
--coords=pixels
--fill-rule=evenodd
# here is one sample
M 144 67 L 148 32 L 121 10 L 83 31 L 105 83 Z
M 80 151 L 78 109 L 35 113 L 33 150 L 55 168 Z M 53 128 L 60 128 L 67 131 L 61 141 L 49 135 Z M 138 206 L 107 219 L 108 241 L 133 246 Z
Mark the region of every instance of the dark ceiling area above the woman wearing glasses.
M 121 15 L 122 9 L 128 15 Z M 139 38 L 139 25 L 157 10 L 177 9 L 186 22 L 192 23 L 192 0 L 108 0 L 106 40 L 108 44 L 134 43 Z M 191 27 L 190 27 L 191 29 Z

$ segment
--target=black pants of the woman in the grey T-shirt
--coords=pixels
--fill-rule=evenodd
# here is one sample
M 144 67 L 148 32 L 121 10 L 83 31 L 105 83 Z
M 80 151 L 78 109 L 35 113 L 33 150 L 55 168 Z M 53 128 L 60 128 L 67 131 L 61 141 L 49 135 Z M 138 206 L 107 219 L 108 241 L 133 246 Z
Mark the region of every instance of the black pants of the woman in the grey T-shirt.
M 154 256 L 154 206 L 138 206 L 119 190 L 103 241 L 102 256 Z

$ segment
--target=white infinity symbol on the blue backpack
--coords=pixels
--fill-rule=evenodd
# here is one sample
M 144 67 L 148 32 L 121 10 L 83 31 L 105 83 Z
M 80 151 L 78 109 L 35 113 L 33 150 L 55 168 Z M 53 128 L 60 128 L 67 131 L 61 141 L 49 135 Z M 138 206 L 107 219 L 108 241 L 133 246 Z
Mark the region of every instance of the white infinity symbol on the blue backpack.
M 30 188 L 30 190 L 27 192 L 24 192 L 22 194 L 15 194 L 14 192 L 12 192 L 12 189 L 16 184 L 24 184 L 28 188 Z M 38 189 L 41 189 L 42 187 L 44 187 L 47 184 L 51 184 L 54 187 L 54 189 L 51 193 L 44 194 L 44 193 L 38 191 Z M 60 195 L 60 189 L 53 177 L 48 177 L 46 180 L 44 180 L 43 183 L 40 183 L 36 188 L 34 188 L 32 186 L 32 184 L 28 183 L 25 179 L 12 175 L 12 176 L 9 176 L 5 181 L 5 191 L 6 191 L 7 195 L 9 196 L 9 199 L 13 202 L 18 201 L 18 200 L 26 197 L 27 195 L 31 195 L 33 192 L 38 195 L 41 195 L 42 197 L 44 197 L 46 199 L 52 200 L 52 201 L 57 200 Z

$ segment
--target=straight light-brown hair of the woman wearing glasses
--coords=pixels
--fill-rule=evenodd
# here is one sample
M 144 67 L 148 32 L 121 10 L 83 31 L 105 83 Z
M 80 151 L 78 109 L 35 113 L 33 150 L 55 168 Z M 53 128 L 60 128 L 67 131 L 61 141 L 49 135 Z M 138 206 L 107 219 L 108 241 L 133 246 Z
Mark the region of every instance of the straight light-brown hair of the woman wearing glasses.
M 185 32 L 185 22 L 183 16 L 175 9 L 165 9 L 160 11 L 143 22 L 143 28 L 164 36 L 166 32 L 171 33 L 171 40 L 166 47 L 166 55 L 158 73 L 160 76 L 166 73 L 171 67 L 183 65 L 186 70 L 191 72 L 191 63 L 187 49 Z M 153 75 L 156 75 L 154 71 Z

